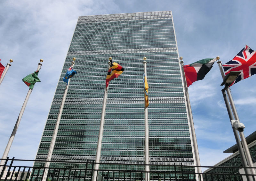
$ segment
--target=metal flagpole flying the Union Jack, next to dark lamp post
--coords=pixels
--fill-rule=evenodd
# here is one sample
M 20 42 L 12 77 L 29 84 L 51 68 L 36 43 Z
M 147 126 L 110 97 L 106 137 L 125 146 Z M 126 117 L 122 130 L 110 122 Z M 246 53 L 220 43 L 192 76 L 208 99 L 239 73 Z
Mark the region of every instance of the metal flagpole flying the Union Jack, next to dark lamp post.
M 218 58 L 220 59 L 220 57 L 218 57 Z M 224 70 L 222 68 L 221 61 L 218 61 L 217 64 L 219 65 L 220 73 L 221 73 L 222 79 L 224 80 L 225 72 L 224 72 Z M 235 103 L 234 103 L 234 100 L 233 100 L 233 97 L 232 97 L 232 94 L 230 92 L 230 88 L 229 87 L 226 89 L 226 92 L 228 94 L 229 103 L 230 103 L 231 109 L 233 111 L 233 115 L 235 117 L 235 120 L 237 120 L 238 123 L 240 123 L 240 120 L 239 120 L 239 117 L 238 117 L 238 114 L 237 114 L 237 111 L 236 111 L 236 106 L 235 106 Z M 234 126 L 233 126 L 232 122 L 231 122 L 231 125 L 232 125 L 232 128 L 234 129 Z M 237 131 L 235 131 L 235 132 L 236 132 L 235 133 L 235 139 L 238 139 L 239 137 L 237 135 Z M 246 160 L 247 160 L 249 167 L 253 167 L 252 157 L 250 155 L 250 151 L 249 151 L 247 142 L 246 142 L 245 137 L 244 137 L 244 132 L 243 131 L 242 132 L 239 131 L 239 135 L 240 135 L 240 138 L 241 138 L 241 141 L 242 141 L 242 145 L 244 147 L 244 151 L 243 151 L 241 142 L 238 141 L 239 143 L 237 143 L 237 146 L 238 146 L 238 150 L 239 150 L 239 153 L 240 153 L 242 164 L 243 164 L 244 167 L 247 167 L 247 163 L 246 163 Z M 243 154 L 241 154 L 241 153 L 243 153 Z M 244 157 L 244 155 L 245 155 L 245 157 Z M 246 158 L 246 160 L 245 160 L 245 158 Z M 246 169 L 244 171 L 246 172 Z M 250 169 L 250 171 L 251 171 L 251 174 L 256 175 L 255 170 L 253 168 Z M 256 180 L 256 176 L 254 176 L 254 178 Z

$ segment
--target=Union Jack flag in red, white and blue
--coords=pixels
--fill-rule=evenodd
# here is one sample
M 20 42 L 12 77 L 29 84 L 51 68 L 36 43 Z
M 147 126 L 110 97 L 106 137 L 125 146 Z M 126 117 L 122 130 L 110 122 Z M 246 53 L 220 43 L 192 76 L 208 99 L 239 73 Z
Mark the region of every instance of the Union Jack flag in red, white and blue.
M 230 71 L 241 72 L 236 80 L 230 85 L 232 86 L 240 80 L 256 74 L 256 51 L 253 51 L 248 45 L 245 45 L 245 47 L 236 55 L 236 57 L 222 66 L 226 75 Z

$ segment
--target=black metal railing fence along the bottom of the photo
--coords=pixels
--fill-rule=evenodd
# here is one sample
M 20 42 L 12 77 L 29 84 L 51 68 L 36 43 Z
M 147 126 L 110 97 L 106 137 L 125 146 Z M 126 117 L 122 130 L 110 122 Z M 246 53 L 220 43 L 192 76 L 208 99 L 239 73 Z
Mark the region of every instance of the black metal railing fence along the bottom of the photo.
M 98 163 L 93 161 L 51 161 L 50 167 L 46 168 L 44 160 L 20 160 L 14 157 L 4 160 L 4 165 L 0 165 L 1 181 L 93 181 L 93 174 L 97 174 L 97 181 L 255 181 L 256 177 L 239 174 L 238 170 L 244 167 L 201 166 L 212 169 L 207 173 L 196 173 L 196 166 L 182 163 L 150 164 L 150 171 L 146 172 L 145 164 L 100 163 L 100 169 L 95 170 L 95 164 Z M 34 162 L 34 166 L 16 165 L 20 161 L 30 162 L 29 165 Z M 149 177 L 145 179 L 145 175 Z

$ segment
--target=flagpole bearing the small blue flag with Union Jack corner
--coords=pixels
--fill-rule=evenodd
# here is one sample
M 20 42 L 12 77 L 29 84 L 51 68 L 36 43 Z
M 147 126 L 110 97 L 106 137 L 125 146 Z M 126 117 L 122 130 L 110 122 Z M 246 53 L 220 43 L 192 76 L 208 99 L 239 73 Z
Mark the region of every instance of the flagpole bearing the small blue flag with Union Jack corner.
M 75 61 L 76 61 L 76 58 L 73 57 L 73 61 L 71 62 L 71 65 L 73 67 L 74 67 Z M 60 104 L 60 110 L 59 110 L 59 113 L 58 113 L 58 117 L 57 117 L 57 121 L 55 123 L 54 130 L 53 130 L 51 144 L 50 144 L 50 147 L 49 147 L 46 162 L 44 164 L 45 170 L 44 170 L 44 177 L 43 177 L 42 181 L 46 181 L 46 178 L 47 178 L 47 173 L 48 173 L 48 170 L 49 170 L 48 168 L 50 166 L 50 161 L 51 161 L 51 158 L 52 158 L 52 152 L 53 152 L 53 148 L 54 148 L 54 145 L 55 145 L 55 142 L 56 142 L 57 133 L 58 133 L 59 125 L 60 125 L 60 118 L 61 118 L 61 115 L 62 115 L 62 111 L 63 111 L 64 104 L 65 104 L 65 101 L 66 101 L 67 93 L 68 93 L 69 82 L 70 82 L 70 79 L 68 79 L 68 84 L 66 85 L 66 88 L 65 88 L 65 91 L 64 91 L 64 94 L 63 94 L 63 97 L 62 97 L 62 101 L 61 101 L 61 104 Z

